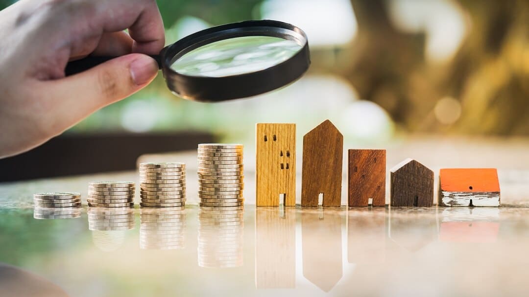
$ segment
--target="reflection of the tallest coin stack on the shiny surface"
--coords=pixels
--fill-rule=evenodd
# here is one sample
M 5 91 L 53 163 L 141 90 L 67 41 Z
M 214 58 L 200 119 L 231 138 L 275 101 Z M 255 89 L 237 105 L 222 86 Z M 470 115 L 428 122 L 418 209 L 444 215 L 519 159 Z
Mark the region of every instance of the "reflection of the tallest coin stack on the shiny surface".
M 243 261 L 243 210 L 201 207 L 198 210 L 198 265 L 239 267 Z

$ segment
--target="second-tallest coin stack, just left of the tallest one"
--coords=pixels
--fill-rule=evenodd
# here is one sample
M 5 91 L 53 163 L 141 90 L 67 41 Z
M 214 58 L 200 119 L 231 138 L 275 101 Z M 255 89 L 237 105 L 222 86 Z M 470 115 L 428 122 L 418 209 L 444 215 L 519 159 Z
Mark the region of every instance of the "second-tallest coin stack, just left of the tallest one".
M 185 206 L 186 164 L 140 163 L 140 182 L 140 206 Z

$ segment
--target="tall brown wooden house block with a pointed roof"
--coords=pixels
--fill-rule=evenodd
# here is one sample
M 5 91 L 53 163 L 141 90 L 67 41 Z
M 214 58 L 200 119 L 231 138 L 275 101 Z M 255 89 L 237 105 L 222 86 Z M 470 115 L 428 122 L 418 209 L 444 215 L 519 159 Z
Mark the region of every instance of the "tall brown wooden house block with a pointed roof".
M 330 120 L 325 120 L 303 136 L 301 205 L 323 206 L 342 203 L 343 135 Z

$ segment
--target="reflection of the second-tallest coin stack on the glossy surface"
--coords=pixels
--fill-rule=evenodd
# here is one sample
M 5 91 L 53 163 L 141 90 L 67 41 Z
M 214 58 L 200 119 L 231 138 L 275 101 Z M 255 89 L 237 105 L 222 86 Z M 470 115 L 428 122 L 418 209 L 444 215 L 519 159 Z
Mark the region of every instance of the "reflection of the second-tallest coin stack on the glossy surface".
M 184 248 L 186 211 L 178 208 L 141 208 L 140 248 Z

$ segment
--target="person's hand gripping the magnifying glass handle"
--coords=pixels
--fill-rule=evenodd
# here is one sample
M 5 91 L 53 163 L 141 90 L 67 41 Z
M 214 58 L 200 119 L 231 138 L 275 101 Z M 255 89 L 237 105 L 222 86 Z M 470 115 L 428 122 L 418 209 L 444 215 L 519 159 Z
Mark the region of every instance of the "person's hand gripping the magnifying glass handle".
M 165 43 L 155 0 L 21 0 L 0 12 L 0 40 L 0 157 L 148 85 L 158 66 L 145 54 Z M 65 78 L 88 54 L 121 57 Z

